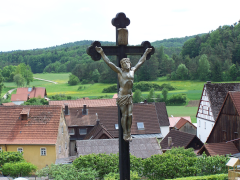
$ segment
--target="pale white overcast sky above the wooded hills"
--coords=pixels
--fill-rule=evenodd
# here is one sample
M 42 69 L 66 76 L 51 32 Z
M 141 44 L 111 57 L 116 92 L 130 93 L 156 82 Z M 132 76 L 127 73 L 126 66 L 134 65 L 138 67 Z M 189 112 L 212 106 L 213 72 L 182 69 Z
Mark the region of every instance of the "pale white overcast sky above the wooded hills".
M 191 36 L 238 22 L 239 7 L 240 0 L 0 0 L 0 51 L 114 42 L 118 12 L 131 21 L 130 45 Z

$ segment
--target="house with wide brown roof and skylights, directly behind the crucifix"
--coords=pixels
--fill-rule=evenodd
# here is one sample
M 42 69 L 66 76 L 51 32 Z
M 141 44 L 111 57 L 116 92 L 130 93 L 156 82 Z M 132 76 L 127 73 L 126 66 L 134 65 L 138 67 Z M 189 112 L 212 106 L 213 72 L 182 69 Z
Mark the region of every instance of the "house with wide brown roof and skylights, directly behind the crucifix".
M 118 138 L 118 108 L 108 107 L 65 107 L 66 124 L 70 134 L 70 155 L 76 153 L 76 140 Z M 165 103 L 133 104 L 133 138 L 163 138 L 169 130 Z M 167 127 L 166 131 L 164 131 Z

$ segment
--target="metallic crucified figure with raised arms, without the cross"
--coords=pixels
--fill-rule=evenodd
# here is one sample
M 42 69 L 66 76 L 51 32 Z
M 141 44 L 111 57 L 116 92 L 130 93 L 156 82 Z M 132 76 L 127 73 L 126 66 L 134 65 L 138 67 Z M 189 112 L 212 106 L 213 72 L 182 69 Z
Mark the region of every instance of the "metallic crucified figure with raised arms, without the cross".
M 129 58 L 123 58 L 120 61 L 121 67 L 117 67 L 113 64 L 103 52 L 101 47 L 95 47 L 96 51 L 101 54 L 105 63 L 116 73 L 118 73 L 119 92 L 117 98 L 117 104 L 120 106 L 122 112 L 121 124 L 123 128 L 123 139 L 125 141 L 131 141 L 131 126 L 132 126 L 132 86 L 134 80 L 134 72 L 146 61 L 148 53 L 152 51 L 152 48 L 147 48 L 143 56 L 139 59 L 138 63 L 131 67 Z

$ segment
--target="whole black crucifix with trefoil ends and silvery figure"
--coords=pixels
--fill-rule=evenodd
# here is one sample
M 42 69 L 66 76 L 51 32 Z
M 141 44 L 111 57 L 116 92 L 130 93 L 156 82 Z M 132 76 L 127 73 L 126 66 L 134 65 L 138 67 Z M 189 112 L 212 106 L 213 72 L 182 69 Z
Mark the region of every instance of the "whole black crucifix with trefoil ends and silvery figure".
M 150 59 L 155 49 L 150 42 L 144 41 L 141 46 L 127 46 L 129 18 L 124 13 L 118 13 L 112 19 L 112 25 L 116 27 L 116 46 L 101 46 L 99 41 L 92 43 L 87 49 L 87 54 L 94 61 L 103 58 L 105 63 L 118 74 L 118 127 L 119 127 L 119 171 L 121 180 L 130 180 L 130 155 L 129 142 L 132 125 L 132 86 L 134 72 Z M 116 55 L 117 66 L 113 64 L 106 55 Z M 130 59 L 127 55 L 142 55 L 139 62 L 131 67 Z

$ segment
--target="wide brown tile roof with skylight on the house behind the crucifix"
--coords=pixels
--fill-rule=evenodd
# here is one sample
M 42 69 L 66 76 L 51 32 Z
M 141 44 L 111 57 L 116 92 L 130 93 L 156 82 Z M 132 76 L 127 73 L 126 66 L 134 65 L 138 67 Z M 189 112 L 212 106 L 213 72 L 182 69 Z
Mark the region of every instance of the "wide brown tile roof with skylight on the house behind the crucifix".
M 88 107 L 88 115 L 82 114 L 81 108 L 69 108 L 69 115 L 65 115 L 68 126 L 94 126 L 96 124 L 96 113 L 100 122 L 114 137 L 118 137 L 117 106 Z M 144 130 L 138 130 L 137 122 L 144 123 Z M 133 104 L 132 134 L 158 134 L 160 133 L 159 120 L 154 104 Z

